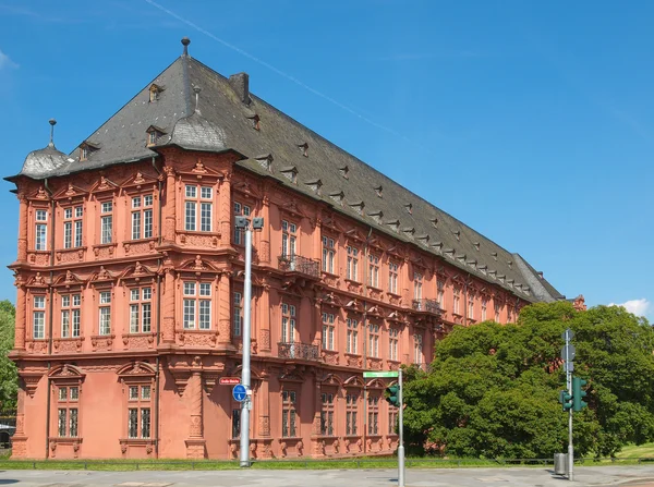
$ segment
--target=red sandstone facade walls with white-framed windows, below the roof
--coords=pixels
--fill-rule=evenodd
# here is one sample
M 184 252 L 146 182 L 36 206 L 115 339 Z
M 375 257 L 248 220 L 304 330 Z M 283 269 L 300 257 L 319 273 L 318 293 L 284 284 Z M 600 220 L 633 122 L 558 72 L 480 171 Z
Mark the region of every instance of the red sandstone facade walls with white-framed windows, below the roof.
M 388 385 L 452 325 L 514 320 L 526 301 L 419 245 L 235 165 L 156 158 L 44 180 L 20 200 L 15 458 L 239 454 L 243 239 L 253 236 L 251 454 L 389 453 Z M 194 229 L 194 230 L 192 230 Z

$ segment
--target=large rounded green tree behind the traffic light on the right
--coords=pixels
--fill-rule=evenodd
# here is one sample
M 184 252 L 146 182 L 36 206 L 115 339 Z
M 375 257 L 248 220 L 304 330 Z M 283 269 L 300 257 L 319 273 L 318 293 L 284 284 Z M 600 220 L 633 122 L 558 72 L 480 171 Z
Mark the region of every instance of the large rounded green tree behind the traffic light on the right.
M 429 373 L 408 374 L 404 414 L 412 452 L 550 458 L 565 451 L 558 403 L 566 328 L 576 331 L 576 374 L 590 406 L 574 413 L 578 454 L 614 454 L 654 439 L 654 331 L 619 307 L 578 313 L 567 302 L 534 304 L 518 324 L 456 327 L 436 344 Z

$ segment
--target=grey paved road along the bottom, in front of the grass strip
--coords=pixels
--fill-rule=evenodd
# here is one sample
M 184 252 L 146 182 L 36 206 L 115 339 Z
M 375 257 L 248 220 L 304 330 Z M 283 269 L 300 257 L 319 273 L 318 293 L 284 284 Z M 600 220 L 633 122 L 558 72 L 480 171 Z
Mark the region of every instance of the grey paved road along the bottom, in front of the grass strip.
M 392 487 L 393 470 L 221 471 L 221 472 L 86 472 L 1 471 L 0 486 L 15 487 Z M 429 468 L 407 471 L 407 487 L 654 487 L 654 466 L 576 468 L 576 482 L 548 468 Z

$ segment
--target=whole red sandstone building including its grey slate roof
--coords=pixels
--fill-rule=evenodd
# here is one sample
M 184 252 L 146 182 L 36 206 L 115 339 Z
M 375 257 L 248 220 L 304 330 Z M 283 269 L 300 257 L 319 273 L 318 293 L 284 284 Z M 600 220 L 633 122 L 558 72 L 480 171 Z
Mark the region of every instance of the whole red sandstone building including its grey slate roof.
M 425 367 L 453 325 L 562 299 L 476 233 L 187 53 L 70 155 L 8 178 L 20 200 L 16 458 L 239 454 L 252 306 L 256 459 L 389 453 L 363 370 Z M 51 121 L 52 126 L 55 121 Z M 263 217 L 243 302 L 235 215 Z

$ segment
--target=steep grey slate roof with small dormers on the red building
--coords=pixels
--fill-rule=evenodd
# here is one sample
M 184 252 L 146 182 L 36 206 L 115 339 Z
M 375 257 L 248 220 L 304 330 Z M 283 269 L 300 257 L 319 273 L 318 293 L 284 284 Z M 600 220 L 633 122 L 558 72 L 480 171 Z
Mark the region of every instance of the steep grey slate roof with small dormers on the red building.
M 162 89 L 155 101 L 150 101 L 153 84 Z M 243 102 L 238 86 L 183 54 L 80 144 L 88 143 L 95 148 L 87 160 L 80 161 L 78 146 L 64 163 L 52 156 L 49 170 L 45 163 L 39 170 L 31 169 L 36 166 L 31 165 L 21 174 L 44 179 L 126 163 L 157 157 L 156 149 L 166 145 L 204 151 L 230 149 L 243 156 L 240 166 L 322 199 L 378 231 L 440 255 L 451 265 L 523 300 L 565 299 L 518 254 L 506 251 L 261 98 L 250 94 L 249 104 Z M 194 87 L 201 88 L 197 110 Z M 152 126 L 164 133 L 156 147 L 148 148 L 146 131 Z M 269 159 L 268 169 L 264 162 Z M 296 173 L 295 183 L 290 179 L 292 172 Z M 529 288 L 529 294 L 524 288 Z

